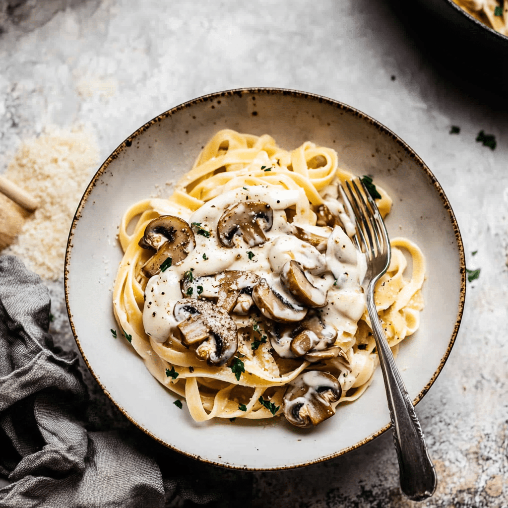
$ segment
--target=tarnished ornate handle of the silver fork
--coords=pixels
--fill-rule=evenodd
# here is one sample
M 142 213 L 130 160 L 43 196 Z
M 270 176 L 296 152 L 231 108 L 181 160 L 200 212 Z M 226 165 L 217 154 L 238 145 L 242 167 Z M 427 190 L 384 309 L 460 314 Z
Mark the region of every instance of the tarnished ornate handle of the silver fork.
M 375 308 L 374 284 L 377 278 L 370 281 L 367 289 L 367 310 L 385 380 L 393 440 L 399 459 L 400 488 L 409 499 L 421 501 L 433 494 L 437 483 L 436 472 L 427 451 L 420 422 L 400 377 Z

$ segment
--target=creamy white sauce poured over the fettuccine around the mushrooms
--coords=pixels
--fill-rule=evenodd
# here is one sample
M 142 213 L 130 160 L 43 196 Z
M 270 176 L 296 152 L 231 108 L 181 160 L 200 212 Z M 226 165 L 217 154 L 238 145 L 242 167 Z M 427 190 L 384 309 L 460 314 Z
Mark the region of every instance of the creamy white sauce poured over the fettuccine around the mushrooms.
M 162 201 L 157 203 L 158 209 L 171 214 L 171 207 L 165 207 Z M 250 247 L 237 236 L 232 248 L 224 247 L 217 238 L 219 218 L 226 209 L 248 201 L 268 203 L 273 210 L 273 226 L 265 233 L 267 241 Z M 337 201 L 336 203 L 337 208 L 340 203 Z M 329 235 L 326 253 L 319 252 L 309 243 L 290 233 L 292 225 L 288 224 L 284 209 L 295 205 L 297 209 L 295 224 L 302 224 L 315 234 Z M 208 201 L 189 217 L 183 216 L 181 209 L 176 211 L 178 213 L 173 214 L 178 214 L 188 224 L 201 223 L 201 228 L 209 231 L 210 237 L 197 234 L 197 229 L 193 228 L 196 239 L 194 250 L 189 252 L 183 261 L 151 277 L 148 281 L 145 289 L 143 326 L 146 333 L 155 341 L 164 342 L 173 335 L 176 327 L 173 309 L 178 300 L 188 297 L 182 294 L 180 281 L 189 270 L 192 270 L 194 278 L 221 274 L 226 270 L 256 273 L 266 279 L 270 288 L 288 300 L 291 305 L 301 308 L 301 304 L 280 281 L 282 267 L 291 260 L 296 260 L 302 265 L 308 280 L 315 288 L 328 294 L 328 303 L 322 309 L 325 324 L 328 327 L 333 326 L 339 335 L 343 332 L 351 333 L 353 328 L 356 331 L 356 322 L 365 308 L 365 298 L 360 285 L 365 274 L 365 260 L 341 228 L 335 227 L 330 234 L 328 227 L 320 228 L 312 224 L 309 227 L 307 218 L 309 204 L 303 189 L 281 190 L 265 186 L 247 187 L 246 190 L 234 189 Z M 213 284 L 210 282 L 204 288 L 202 296 L 216 296 L 218 286 L 214 288 Z M 198 297 L 196 289 L 190 297 Z M 251 305 L 251 299 L 248 296 L 244 297 L 238 301 L 233 312 L 248 313 Z M 285 348 L 285 345 L 282 347 Z

